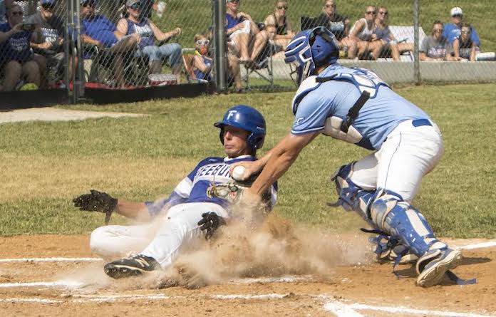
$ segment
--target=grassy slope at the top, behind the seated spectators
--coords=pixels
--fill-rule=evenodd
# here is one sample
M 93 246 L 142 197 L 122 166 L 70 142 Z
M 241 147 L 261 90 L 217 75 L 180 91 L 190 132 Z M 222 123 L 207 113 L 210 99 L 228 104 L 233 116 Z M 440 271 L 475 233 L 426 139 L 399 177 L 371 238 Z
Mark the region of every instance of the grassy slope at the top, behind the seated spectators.
M 242 1 L 241 10 L 250 14 L 255 21 L 264 19 L 274 12 L 274 2 L 267 0 Z M 317 16 L 321 13 L 324 0 L 289 0 L 288 16 L 296 30 L 299 30 L 300 16 Z M 339 14 L 348 16 L 354 21 L 363 17 L 365 6 L 387 6 L 389 24 L 400 26 L 413 25 L 413 0 L 351 0 L 337 1 Z M 450 9 L 461 6 L 465 14 L 464 21 L 472 24 L 480 36 L 482 51 L 496 51 L 496 28 L 494 12 L 496 4 L 492 0 L 438 0 L 420 1 L 420 26 L 425 33 L 430 33 L 433 21 L 449 22 Z M 212 25 L 211 1 L 182 0 L 167 1 L 167 9 L 162 18 L 153 16 L 153 21 L 164 30 L 171 30 L 176 26 L 183 29 L 182 36 L 175 39 L 183 47 L 193 47 L 195 33 L 206 32 Z

